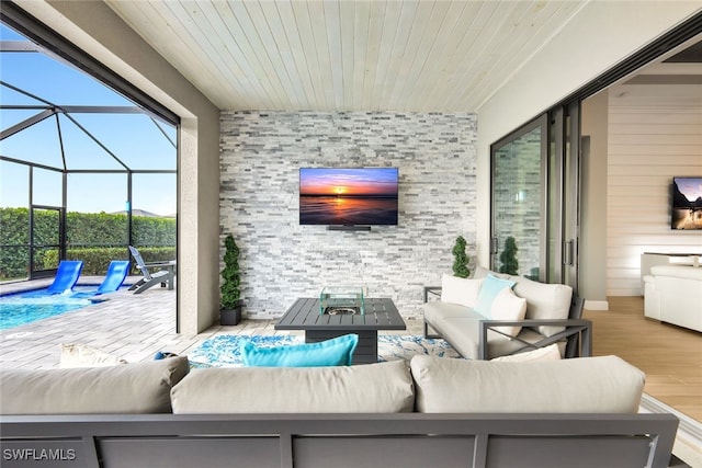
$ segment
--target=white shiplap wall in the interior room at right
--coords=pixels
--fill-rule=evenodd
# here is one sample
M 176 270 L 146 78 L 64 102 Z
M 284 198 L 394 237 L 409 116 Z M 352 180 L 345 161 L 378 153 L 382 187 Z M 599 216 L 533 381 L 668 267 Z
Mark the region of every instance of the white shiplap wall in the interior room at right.
M 702 232 L 670 229 L 673 175 L 702 176 L 702 85 L 609 90 L 607 295 L 637 296 L 641 254 L 702 253 Z

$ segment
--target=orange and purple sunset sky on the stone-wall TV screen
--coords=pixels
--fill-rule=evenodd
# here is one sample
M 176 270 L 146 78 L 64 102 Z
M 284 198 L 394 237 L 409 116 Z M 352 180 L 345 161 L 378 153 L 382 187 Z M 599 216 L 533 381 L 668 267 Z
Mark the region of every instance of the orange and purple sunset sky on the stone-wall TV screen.
M 301 195 L 397 195 L 396 168 L 299 170 Z

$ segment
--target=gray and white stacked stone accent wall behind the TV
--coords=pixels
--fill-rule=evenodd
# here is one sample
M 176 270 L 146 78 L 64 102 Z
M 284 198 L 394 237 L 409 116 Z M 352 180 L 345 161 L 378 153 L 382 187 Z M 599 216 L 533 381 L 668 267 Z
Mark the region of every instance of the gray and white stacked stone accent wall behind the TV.
M 338 284 L 420 318 L 422 286 L 451 273 L 458 235 L 475 254 L 475 114 L 224 112 L 220 124 L 220 240 L 233 233 L 241 250 L 249 318 Z M 299 168 L 310 167 L 398 168 L 398 226 L 299 226 Z

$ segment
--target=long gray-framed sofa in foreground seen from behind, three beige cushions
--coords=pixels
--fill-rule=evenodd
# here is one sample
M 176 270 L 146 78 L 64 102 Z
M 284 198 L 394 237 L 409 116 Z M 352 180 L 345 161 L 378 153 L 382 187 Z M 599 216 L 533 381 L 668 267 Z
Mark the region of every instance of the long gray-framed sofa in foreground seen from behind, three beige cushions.
M 614 356 L 189 367 L 3 370 L 3 468 L 663 468 L 678 426 Z

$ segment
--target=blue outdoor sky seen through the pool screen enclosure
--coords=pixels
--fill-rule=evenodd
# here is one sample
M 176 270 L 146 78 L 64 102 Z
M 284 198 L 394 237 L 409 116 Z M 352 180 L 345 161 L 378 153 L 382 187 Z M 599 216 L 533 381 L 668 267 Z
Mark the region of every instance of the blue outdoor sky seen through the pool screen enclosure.
M 1 25 L 0 39 L 22 41 L 24 37 Z M 134 105 L 82 71 L 37 53 L 0 53 L 0 80 L 58 105 Z M 5 85 L 0 87 L 0 103 L 45 105 Z M 0 128 L 5 130 L 42 111 L 2 109 Z M 174 127 L 144 114 L 71 113 L 70 116 L 52 116 L 0 140 L 0 155 L 56 169 L 61 169 L 65 160 L 69 170 L 124 170 L 126 165 L 133 170 L 174 171 L 176 140 Z M 29 206 L 29 172 L 24 164 L 0 161 L 0 206 Z M 34 204 L 60 206 L 60 173 L 35 169 L 33 176 Z M 69 173 L 67 209 L 84 213 L 124 210 L 126 180 L 125 173 Z M 132 206 L 158 215 L 173 215 L 176 191 L 174 173 L 134 174 Z

